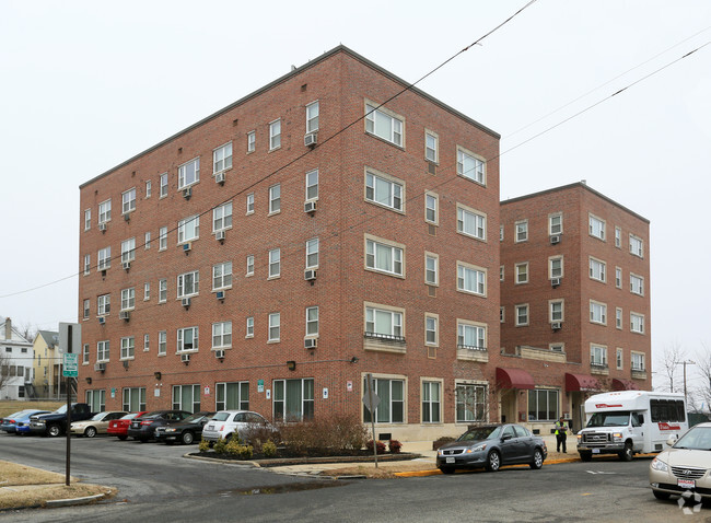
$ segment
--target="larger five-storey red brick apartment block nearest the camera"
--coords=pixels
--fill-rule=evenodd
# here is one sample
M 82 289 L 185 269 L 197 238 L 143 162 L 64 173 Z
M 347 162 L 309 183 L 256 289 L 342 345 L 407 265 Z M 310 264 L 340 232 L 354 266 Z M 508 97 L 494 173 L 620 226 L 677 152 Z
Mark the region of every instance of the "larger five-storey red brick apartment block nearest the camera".
M 407 85 L 340 46 L 83 184 L 80 397 L 497 419 L 500 137 Z

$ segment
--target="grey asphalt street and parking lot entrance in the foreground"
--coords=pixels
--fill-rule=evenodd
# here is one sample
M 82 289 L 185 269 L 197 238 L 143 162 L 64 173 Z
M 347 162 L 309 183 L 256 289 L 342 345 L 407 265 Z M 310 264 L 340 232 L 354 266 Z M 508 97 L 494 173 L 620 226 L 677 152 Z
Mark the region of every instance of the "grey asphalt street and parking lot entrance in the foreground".
M 0 460 L 53 472 L 63 472 L 63 439 L 0 435 Z M 0 513 L 0 522 L 668 522 L 711 515 L 703 509 L 685 516 L 675 501 L 655 500 L 646 484 L 650 458 L 338 484 L 182 457 L 194 449 L 74 439 L 73 475 L 118 487 L 119 495 L 96 505 Z M 308 489 L 314 486 L 324 488 Z

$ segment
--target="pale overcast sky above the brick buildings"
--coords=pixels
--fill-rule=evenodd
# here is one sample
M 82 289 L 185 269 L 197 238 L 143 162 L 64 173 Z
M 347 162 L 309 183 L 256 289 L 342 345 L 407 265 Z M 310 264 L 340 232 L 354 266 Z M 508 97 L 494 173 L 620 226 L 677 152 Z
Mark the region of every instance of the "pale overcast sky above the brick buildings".
M 0 315 L 77 321 L 80 184 L 339 44 L 415 82 L 526 3 L 0 0 Z M 502 136 L 502 200 L 651 221 L 654 361 L 711 347 L 709 42 L 708 0 L 537 0 L 418 84 Z

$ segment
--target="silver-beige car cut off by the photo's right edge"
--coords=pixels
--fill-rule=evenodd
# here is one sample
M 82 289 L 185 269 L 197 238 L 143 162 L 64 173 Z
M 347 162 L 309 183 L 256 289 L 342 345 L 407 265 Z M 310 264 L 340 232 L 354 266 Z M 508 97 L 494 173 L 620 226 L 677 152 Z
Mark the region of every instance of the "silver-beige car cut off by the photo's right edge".
M 650 463 L 650 486 L 656 499 L 687 491 L 711 498 L 711 423 L 691 427 Z M 696 496 L 695 496 L 696 497 Z M 699 499 L 699 498 L 696 498 Z

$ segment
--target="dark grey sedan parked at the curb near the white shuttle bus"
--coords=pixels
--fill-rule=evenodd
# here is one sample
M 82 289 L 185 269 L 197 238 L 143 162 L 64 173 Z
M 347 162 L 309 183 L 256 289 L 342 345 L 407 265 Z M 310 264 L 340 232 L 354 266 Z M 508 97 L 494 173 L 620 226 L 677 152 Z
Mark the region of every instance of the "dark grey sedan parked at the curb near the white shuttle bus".
M 497 472 L 503 465 L 527 463 L 540 468 L 548 456 L 543 438 L 520 425 L 490 425 L 467 430 L 436 453 L 436 466 L 443 474 L 455 468 L 486 468 Z

